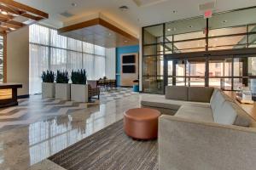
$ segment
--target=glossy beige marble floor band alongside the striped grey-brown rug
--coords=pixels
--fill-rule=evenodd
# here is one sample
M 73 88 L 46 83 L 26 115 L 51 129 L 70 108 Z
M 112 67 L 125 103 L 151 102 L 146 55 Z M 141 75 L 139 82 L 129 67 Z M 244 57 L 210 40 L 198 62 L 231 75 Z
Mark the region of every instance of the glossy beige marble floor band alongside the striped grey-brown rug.
M 142 95 L 133 94 L 3 130 L 0 132 L 0 169 L 22 170 L 32 165 L 31 169 L 57 169 L 44 159 L 121 120 L 124 111 L 140 106 Z

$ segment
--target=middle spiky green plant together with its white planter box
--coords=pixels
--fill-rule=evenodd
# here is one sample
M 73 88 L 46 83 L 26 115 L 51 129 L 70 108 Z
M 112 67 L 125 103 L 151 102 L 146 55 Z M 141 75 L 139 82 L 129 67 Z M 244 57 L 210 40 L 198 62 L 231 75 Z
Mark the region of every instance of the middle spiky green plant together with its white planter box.
M 70 100 L 70 84 L 68 72 L 57 71 L 55 83 L 55 99 Z

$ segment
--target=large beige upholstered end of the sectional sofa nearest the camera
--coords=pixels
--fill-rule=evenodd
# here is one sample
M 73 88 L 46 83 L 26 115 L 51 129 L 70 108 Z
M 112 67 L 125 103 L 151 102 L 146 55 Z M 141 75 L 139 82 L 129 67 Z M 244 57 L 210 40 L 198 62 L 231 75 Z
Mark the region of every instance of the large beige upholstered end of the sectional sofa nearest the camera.
M 159 118 L 160 170 L 253 170 L 256 130 L 177 116 Z

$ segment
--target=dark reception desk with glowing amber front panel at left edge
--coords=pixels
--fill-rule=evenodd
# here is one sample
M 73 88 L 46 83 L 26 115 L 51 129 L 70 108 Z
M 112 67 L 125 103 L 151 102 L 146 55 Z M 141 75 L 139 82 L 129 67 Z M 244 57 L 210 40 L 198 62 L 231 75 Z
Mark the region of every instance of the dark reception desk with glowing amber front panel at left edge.
M 22 88 L 19 83 L 1 83 L 0 84 L 0 108 L 11 105 L 18 105 L 17 89 Z

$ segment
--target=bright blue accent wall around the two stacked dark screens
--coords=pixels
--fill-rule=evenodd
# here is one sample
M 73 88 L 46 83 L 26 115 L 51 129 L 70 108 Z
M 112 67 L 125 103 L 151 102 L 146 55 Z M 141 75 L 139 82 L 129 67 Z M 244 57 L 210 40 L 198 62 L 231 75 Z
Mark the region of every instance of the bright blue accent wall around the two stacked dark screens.
M 140 50 L 139 45 L 125 46 L 125 47 L 121 47 L 121 48 L 116 48 L 116 81 L 117 81 L 117 86 L 120 86 L 120 83 L 121 83 L 121 77 L 120 77 L 121 55 L 122 54 L 130 54 L 130 53 L 138 53 L 139 50 Z

